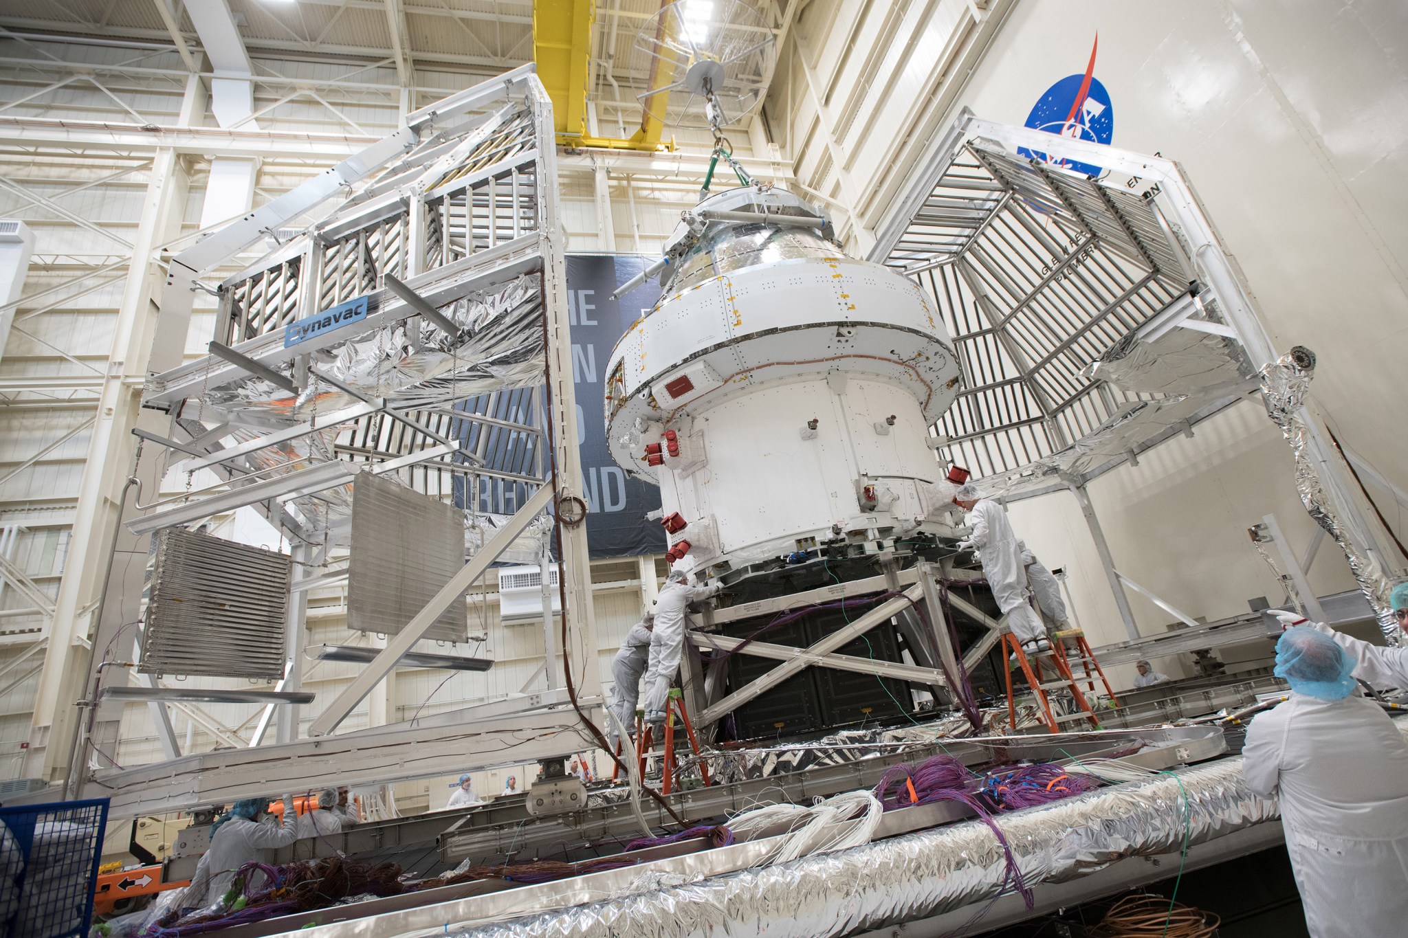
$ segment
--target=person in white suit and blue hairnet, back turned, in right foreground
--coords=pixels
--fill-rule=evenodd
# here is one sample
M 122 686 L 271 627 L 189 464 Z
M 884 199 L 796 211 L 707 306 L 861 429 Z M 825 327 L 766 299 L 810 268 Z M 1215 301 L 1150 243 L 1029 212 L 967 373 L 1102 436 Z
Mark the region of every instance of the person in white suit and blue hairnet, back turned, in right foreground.
M 1276 643 L 1290 699 L 1252 720 L 1242 779 L 1280 796 L 1286 848 L 1312 938 L 1401 935 L 1408 923 L 1408 745 L 1364 698 L 1335 640 Z

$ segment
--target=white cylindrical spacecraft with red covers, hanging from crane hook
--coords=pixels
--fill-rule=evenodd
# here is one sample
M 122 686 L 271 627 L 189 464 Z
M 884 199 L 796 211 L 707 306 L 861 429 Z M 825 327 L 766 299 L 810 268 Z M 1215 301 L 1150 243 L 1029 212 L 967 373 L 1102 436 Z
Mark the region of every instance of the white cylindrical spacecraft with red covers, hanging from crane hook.
M 736 577 L 952 532 L 928 428 L 960 368 L 918 284 L 845 256 L 822 212 L 760 184 L 683 212 L 650 271 L 660 298 L 608 360 L 607 439 L 660 487 L 672 561 Z

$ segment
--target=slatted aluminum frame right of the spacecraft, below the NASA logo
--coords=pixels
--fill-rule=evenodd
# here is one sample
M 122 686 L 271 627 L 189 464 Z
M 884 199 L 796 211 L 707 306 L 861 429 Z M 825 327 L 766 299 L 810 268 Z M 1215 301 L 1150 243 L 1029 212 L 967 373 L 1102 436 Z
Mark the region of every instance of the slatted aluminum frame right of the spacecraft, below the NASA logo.
M 869 260 L 929 288 L 953 336 L 964 388 L 934 428 L 943 453 L 1008 499 L 1071 491 L 1138 640 L 1086 482 L 1257 391 L 1280 357 L 1181 167 L 964 108 Z M 1293 419 L 1324 489 L 1312 515 L 1338 516 L 1369 584 L 1388 567 L 1347 465 L 1308 406 Z

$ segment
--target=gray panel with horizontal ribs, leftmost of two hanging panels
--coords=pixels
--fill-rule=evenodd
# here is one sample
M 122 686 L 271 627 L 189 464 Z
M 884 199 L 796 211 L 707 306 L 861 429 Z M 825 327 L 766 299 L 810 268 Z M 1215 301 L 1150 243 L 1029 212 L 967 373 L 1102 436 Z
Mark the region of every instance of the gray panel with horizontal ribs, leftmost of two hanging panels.
M 279 681 L 291 570 L 287 554 L 159 532 L 138 671 Z

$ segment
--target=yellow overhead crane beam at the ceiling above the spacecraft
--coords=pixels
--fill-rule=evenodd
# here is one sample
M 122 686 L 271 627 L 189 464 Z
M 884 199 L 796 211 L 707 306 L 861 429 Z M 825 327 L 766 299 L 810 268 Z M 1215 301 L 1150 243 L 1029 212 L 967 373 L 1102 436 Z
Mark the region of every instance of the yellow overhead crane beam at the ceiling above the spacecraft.
M 663 3 L 662 3 L 663 6 Z M 618 150 L 673 150 L 674 139 L 662 142 L 665 124 L 642 110 L 641 129 L 628 139 L 587 134 L 587 75 L 591 66 L 591 24 L 596 0 L 534 0 L 532 58 L 538 79 L 552 98 L 552 121 L 558 143 L 563 146 L 598 146 Z M 650 69 L 650 87 L 663 89 L 674 82 L 673 68 Z M 669 91 L 656 91 L 669 97 Z M 665 110 L 665 98 L 659 111 Z

